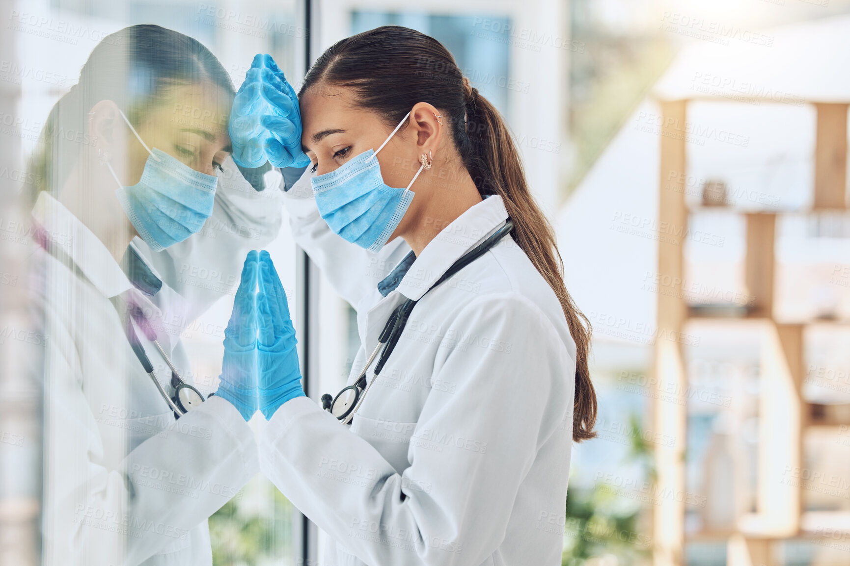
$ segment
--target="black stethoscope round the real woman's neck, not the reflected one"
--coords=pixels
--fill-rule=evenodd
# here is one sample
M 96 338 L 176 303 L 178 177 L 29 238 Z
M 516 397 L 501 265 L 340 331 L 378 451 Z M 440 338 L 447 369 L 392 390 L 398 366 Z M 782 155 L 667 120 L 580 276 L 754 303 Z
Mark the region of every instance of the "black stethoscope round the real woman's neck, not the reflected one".
M 484 242 L 477 245 L 475 248 L 469 250 L 466 254 L 462 255 L 461 258 L 455 261 L 449 269 L 437 280 L 437 283 L 431 285 L 428 288 L 428 291 L 443 283 L 446 279 L 453 276 L 456 272 L 459 272 L 463 267 L 466 267 L 473 261 L 477 260 L 481 255 L 484 255 L 487 251 L 490 250 L 493 246 L 499 243 L 501 238 L 507 236 L 508 233 L 513 229 L 513 222 L 508 220 L 505 224 L 496 230 L 493 235 L 489 238 L 485 239 Z M 348 385 L 342 389 L 339 393 L 337 393 L 336 397 L 331 397 L 331 394 L 326 393 L 321 396 L 321 405 L 327 412 L 330 412 L 331 415 L 337 417 L 339 421 L 343 424 L 348 424 L 351 422 L 351 419 L 354 418 L 354 412 L 360 406 L 360 404 L 365 399 L 366 392 L 369 390 L 372 384 L 377 380 L 377 376 L 381 373 L 383 366 L 387 363 L 387 360 L 390 354 L 393 353 L 395 349 L 395 345 L 398 343 L 399 338 L 401 337 L 401 333 L 405 330 L 405 324 L 407 323 L 407 318 L 410 317 L 411 311 L 413 311 L 413 307 L 416 306 L 416 303 L 419 300 L 422 300 L 428 291 L 422 294 L 421 297 L 417 300 L 408 299 L 405 300 L 404 303 L 397 306 L 387 320 L 387 323 L 384 325 L 383 330 L 381 331 L 380 336 L 377 339 L 377 346 L 375 350 L 372 351 L 371 356 L 366 360 L 365 365 L 363 366 L 363 371 L 360 372 L 360 376 L 354 380 L 353 385 Z M 383 351 L 381 349 L 383 348 Z M 377 366 L 375 366 L 375 372 L 372 380 L 366 383 L 366 372 L 371 366 L 371 362 L 375 361 L 375 358 L 378 355 L 378 352 L 381 351 L 381 357 L 377 361 Z

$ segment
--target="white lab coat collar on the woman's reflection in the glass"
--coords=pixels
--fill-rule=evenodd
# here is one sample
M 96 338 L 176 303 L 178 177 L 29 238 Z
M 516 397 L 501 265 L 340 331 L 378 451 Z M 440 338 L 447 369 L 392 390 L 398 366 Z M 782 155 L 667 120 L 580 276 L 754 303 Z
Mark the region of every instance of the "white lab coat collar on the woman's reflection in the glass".
M 100 239 L 47 191 L 38 193 L 32 218 L 50 244 L 62 249 L 105 297 L 133 289 L 133 284 Z

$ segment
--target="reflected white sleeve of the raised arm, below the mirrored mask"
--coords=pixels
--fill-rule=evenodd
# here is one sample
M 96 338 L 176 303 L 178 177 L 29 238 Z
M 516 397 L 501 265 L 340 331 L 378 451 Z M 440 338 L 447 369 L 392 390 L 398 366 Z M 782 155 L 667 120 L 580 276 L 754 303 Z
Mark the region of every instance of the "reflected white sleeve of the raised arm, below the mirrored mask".
M 186 301 L 187 324 L 235 292 L 248 251 L 263 249 L 277 237 L 282 218 L 280 171 L 265 175 L 266 188 L 258 192 L 228 158 L 218 179 L 212 215 L 201 232 L 161 251 L 152 251 L 141 238 L 133 239 L 162 281 Z

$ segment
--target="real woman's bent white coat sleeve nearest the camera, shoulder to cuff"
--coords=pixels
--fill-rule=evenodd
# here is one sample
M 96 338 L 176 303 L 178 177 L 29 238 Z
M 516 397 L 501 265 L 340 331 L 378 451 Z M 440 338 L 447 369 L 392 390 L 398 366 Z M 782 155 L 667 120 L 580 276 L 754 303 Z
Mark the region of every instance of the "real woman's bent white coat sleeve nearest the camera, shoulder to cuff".
M 538 448 L 571 410 L 572 400 L 550 399 L 553 380 L 570 378 L 570 356 L 517 294 L 464 307 L 437 357 L 432 383 L 454 387 L 428 394 L 402 474 L 306 398 L 281 406 L 263 431 L 263 473 L 371 566 L 483 563 Z M 398 434 L 373 423 L 377 434 Z

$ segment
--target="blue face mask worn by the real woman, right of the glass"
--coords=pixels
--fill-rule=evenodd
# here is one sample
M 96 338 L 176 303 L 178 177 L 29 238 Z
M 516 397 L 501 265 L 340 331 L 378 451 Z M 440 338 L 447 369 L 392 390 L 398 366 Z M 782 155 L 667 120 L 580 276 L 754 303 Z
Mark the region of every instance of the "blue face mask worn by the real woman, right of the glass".
M 371 252 L 381 249 L 399 226 L 413 199 L 411 186 L 424 166 L 420 165 L 407 188 L 392 188 L 384 184 L 375 157 L 410 114 L 401 119 L 377 151 L 367 149 L 338 169 L 312 179 L 316 206 L 331 230 Z

